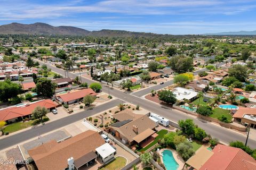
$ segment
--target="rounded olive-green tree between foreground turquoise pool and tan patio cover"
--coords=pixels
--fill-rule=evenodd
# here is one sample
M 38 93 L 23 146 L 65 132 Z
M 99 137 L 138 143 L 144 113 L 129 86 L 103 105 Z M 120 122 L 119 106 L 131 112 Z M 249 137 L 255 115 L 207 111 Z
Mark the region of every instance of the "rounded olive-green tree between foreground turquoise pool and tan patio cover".
M 192 144 L 188 141 L 182 142 L 177 145 L 176 150 L 185 161 L 187 161 L 191 156 L 195 154 Z

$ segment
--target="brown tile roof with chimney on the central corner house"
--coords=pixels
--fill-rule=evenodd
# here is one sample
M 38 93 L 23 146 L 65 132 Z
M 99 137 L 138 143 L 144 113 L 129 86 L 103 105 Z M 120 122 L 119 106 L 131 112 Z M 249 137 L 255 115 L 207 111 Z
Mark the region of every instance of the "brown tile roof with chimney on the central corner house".
M 113 127 L 113 129 L 117 130 L 119 133 L 124 135 L 125 138 L 127 138 L 130 142 L 133 141 L 133 138 L 137 136 L 138 134 L 133 131 L 133 125 L 138 127 L 138 134 L 142 133 L 146 129 L 154 129 L 155 128 L 155 122 L 151 121 L 150 118 L 148 118 L 147 115 L 143 115 L 142 117 L 139 117 L 120 128 Z

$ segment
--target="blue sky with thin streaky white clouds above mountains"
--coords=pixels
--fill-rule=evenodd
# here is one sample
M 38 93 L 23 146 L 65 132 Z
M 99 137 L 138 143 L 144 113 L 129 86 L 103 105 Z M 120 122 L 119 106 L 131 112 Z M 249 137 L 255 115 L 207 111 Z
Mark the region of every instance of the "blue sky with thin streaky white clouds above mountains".
M 0 0 L 0 25 L 12 22 L 172 35 L 253 31 L 256 0 Z

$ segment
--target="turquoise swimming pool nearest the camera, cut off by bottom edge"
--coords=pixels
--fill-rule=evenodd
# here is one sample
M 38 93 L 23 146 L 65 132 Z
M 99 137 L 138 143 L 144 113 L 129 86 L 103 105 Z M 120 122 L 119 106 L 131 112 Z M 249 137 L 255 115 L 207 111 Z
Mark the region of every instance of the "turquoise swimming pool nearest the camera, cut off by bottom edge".
M 162 154 L 163 154 L 163 161 L 164 161 L 164 166 L 166 170 L 177 170 L 179 167 L 179 164 L 174 159 L 172 152 L 170 150 L 164 150 Z

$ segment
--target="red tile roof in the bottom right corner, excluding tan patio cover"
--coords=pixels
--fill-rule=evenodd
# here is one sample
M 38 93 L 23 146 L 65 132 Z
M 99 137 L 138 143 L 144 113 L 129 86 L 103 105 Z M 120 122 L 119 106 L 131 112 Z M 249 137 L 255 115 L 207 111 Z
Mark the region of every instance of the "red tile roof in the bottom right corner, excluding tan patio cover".
M 256 160 L 239 148 L 217 145 L 214 154 L 205 162 L 200 170 L 253 170 Z

